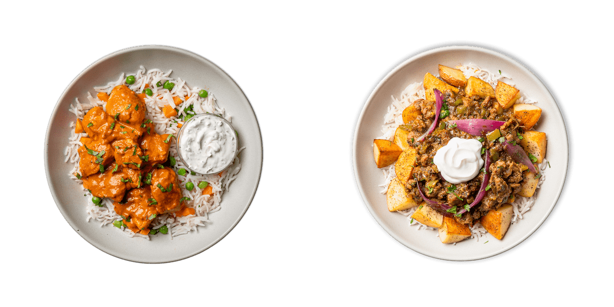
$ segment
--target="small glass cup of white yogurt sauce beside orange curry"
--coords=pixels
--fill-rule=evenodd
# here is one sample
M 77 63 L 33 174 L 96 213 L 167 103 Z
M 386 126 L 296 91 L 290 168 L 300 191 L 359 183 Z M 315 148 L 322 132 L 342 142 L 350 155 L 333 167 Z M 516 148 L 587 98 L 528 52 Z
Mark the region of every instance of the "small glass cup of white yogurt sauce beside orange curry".
M 185 165 L 200 174 L 223 171 L 235 158 L 235 130 L 226 120 L 214 114 L 199 114 L 182 126 L 177 136 L 179 157 Z

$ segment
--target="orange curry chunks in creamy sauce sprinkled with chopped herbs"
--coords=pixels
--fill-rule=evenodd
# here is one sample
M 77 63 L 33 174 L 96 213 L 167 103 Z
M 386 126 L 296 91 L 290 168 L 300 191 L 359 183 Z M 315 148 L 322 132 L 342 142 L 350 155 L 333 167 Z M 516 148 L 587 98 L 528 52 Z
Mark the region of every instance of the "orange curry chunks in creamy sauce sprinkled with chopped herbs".
M 77 119 L 76 133 L 85 132 L 79 148 L 79 169 L 84 188 L 91 195 L 110 198 L 115 212 L 130 230 L 144 235 L 159 214 L 194 214 L 184 206 L 175 171 L 163 165 L 168 160 L 172 135 L 157 134 L 146 119 L 144 94 L 125 85 L 113 88 L 106 101 Z

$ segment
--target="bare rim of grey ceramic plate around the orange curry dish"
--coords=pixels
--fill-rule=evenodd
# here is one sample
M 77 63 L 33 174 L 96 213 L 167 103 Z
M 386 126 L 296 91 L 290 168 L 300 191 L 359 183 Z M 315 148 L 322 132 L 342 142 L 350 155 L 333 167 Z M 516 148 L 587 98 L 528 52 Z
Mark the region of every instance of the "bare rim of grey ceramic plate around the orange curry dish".
M 87 102 L 93 87 L 117 80 L 122 72 L 146 69 L 172 69 L 171 77 L 181 77 L 190 87 L 207 87 L 217 103 L 233 116 L 239 134 L 241 171 L 222 197 L 222 209 L 209 216 L 211 222 L 197 232 L 174 237 L 157 236 L 151 240 L 128 238 L 112 225 L 100 227 L 96 220 L 86 221 L 82 188 L 68 177 L 71 163 L 64 162 L 69 123 L 74 114 L 69 105 L 75 98 Z M 238 84 L 226 72 L 203 56 L 166 46 L 140 46 L 104 56 L 77 76 L 58 99 L 47 126 L 44 145 L 45 173 L 50 192 L 61 214 L 88 243 L 107 254 L 141 263 L 165 263 L 182 260 L 205 251 L 219 242 L 237 225 L 251 204 L 262 173 L 262 135 L 252 106 Z M 228 204 L 233 204 L 228 206 Z

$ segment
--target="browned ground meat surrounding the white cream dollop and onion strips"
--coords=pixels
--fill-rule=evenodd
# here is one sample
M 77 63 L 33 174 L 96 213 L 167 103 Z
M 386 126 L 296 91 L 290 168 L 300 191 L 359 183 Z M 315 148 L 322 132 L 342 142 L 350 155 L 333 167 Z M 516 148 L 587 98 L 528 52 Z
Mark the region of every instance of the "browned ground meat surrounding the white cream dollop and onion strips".
M 510 195 L 518 193 L 520 189 L 519 182 L 523 180 L 521 168 L 505 151 L 505 142 L 519 141 L 518 121 L 513 116 L 512 109 L 503 110 L 498 106 L 496 99 L 467 96 L 462 88 L 459 88 L 458 93 L 446 91 L 442 98 L 445 106 L 442 109 L 447 109 L 449 114 L 446 115 L 445 110 L 443 110 L 442 117 L 445 117 L 440 118 L 436 130 L 422 141 L 416 140 L 427 131 L 435 120 L 435 102 L 425 99 L 418 99 L 414 102 L 422 114 L 408 123 L 411 126 L 408 142 L 416 149 L 418 157 L 416 159 L 417 165 L 413 171 L 414 178 L 407 182 L 406 190 L 408 195 L 417 201 L 422 201 L 418 190 L 418 185 L 421 185 L 424 187 L 423 191 L 427 198 L 431 200 L 447 203 L 449 206 L 457 206 L 457 208 L 472 203 L 480 190 L 483 172 L 480 172 L 470 181 L 451 184 L 440 176 L 437 166 L 433 164 L 433 157 L 435 157 L 437 149 L 448 144 L 451 138 L 478 139 L 482 142 L 484 149 L 488 149 L 490 152 L 491 166 L 489 171 L 491 176 L 488 189 L 480 203 L 461 216 L 454 217 L 460 223 L 473 224 L 489 210 L 499 208 L 508 201 Z M 448 120 L 478 118 L 504 121 L 505 124 L 499 129 L 500 137 L 489 140 L 486 136 L 472 136 L 446 125 Z M 485 155 L 484 153 L 483 158 L 486 158 Z

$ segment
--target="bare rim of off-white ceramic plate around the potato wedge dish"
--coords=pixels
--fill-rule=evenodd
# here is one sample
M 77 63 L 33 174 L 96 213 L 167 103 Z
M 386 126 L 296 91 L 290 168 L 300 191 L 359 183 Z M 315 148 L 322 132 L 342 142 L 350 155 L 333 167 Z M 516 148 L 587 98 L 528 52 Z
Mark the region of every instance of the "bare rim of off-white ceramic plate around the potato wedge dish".
M 511 76 L 516 88 L 525 96 L 537 100 L 542 117 L 535 130 L 543 131 L 548 138 L 546 158 L 551 168 L 546 169 L 546 180 L 538 189 L 538 198 L 519 223 L 511 225 L 502 240 L 488 235 L 488 239 L 466 239 L 456 245 L 443 244 L 437 231 L 416 230 L 402 214 L 389 212 L 386 196 L 381 193 L 383 174 L 373 160 L 373 139 L 381 135 L 384 114 L 392 103 L 391 96 L 399 97 L 401 91 L 413 82 L 421 82 L 426 72 L 438 76 L 438 64 L 455 67 L 474 63 L 481 68 L 497 72 L 499 69 Z M 360 111 L 352 140 L 354 176 L 360 195 L 368 211 L 379 225 L 398 243 L 439 260 L 481 260 L 513 249 L 529 238 L 550 216 L 561 196 L 569 167 L 569 135 L 563 112 L 545 84 L 529 68 L 494 50 L 472 46 L 448 46 L 427 50 L 411 56 L 398 64 L 376 85 Z M 484 244 L 488 240 L 488 244 Z

